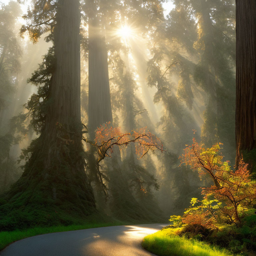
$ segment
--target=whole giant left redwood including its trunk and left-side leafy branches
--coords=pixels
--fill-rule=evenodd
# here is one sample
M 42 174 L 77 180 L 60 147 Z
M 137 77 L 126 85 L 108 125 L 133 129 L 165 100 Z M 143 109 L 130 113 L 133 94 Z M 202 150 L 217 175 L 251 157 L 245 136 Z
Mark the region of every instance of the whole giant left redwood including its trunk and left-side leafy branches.
M 21 32 L 28 31 L 36 41 L 48 26 L 53 48 L 30 79 L 44 84 L 27 103 L 40 136 L 23 150 L 24 173 L 6 197 L 13 210 L 0 207 L 0 215 L 9 216 L 15 228 L 31 222 L 70 223 L 74 215 L 84 217 L 95 207 L 81 142 L 79 0 L 34 0 L 27 18 L 34 24 Z M 17 219 L 20 211 L 22 222 Z M 0 221 L 0 226 L 9 228 L 9 221 Z

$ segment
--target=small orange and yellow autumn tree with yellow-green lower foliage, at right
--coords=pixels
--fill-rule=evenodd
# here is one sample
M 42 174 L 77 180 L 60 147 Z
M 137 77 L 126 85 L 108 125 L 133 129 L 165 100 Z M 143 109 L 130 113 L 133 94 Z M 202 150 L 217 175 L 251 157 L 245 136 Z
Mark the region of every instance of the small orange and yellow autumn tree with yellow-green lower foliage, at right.
M 192 199 L 192 206 L 185 211 L 183 223 L 201 225 L 207 228 L 216 224 L 228 223 L 241 226 L 241 219 L 255 204 L 255 181 L 250 177 L 248 164 L 240 162 L 239 168 L 233 171 L 228 161 L 223 161 L 220 143 L 211 148 L 193 144 L 184 149 L 181 164 L 189 165 L 199 172 L 201 178 L 206 175 L 214 185 L 203 188 L 204 200 L 198 203 Z

